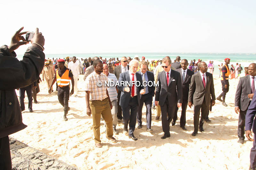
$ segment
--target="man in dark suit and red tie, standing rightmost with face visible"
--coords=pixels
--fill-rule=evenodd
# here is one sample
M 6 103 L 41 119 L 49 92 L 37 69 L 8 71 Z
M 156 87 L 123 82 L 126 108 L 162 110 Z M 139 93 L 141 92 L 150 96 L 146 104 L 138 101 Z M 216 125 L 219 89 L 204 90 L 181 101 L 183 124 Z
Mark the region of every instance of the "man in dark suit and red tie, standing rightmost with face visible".
M 252 101 L 255 91 L 256 81 L 256 64 L 252 63 L 248 67 L 247 76 L 241 77 L 236 89 L 235 97 L 235 112 L 238 114 L 238 129 L 237 136 L 239 137 L 238 143 L 244 143 L 244 123 L 247 109 Z

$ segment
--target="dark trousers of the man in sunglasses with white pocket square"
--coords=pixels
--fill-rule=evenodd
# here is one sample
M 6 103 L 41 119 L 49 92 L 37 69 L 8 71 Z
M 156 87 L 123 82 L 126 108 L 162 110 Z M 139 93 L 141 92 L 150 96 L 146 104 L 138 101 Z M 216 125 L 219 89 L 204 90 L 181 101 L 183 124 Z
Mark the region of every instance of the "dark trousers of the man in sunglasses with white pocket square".
M 166 98 L 164 105 L 161 106 L 161 115 L 162 115 L 162 128 L 165 135 L 170 135 L 170 122 L 174 117 L 174 112 L 176 109 L 177 103 L 169 105 L 169 102 Z M 168 115 L 168 119 L 167 119 Z

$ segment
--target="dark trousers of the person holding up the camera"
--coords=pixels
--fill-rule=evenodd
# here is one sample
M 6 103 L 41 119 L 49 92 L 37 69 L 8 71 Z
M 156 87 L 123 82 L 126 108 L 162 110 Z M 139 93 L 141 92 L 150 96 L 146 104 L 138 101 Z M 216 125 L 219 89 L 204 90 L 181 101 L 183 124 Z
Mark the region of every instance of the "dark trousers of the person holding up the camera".
M 9 137 L 0 138 L 0 170 L 11 170 L 12 159 L 10 153 Z

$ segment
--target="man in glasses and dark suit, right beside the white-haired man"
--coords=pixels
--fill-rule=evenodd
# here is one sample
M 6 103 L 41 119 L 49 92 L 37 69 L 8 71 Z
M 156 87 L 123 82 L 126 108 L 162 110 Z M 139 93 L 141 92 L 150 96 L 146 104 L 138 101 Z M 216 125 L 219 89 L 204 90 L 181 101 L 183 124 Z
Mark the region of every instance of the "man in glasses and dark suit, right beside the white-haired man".
M 151 87 L 148 86 L 148 82 L 154 83 L 154 74 L 151 71 L 147 71 L 148 68 L 148 63 L 146 61 L 141 61 L 140 62 L 140 71 L 138 73 L 141 74 L 142 82 L 145 81 L 144 83 L 144 91 L 145 94 L 140 95 L 139 94 L 139 100 L 140 100 L 140 105 L 138 107 L 137 111 L 137 121 L 138 121 L 138 129 L 142 128 L 142 107 L 143 103 L 145 103 L 147 111 L 146 111 L 146 118 L 147 118 L 147 131 L 152 132 L 153 130 L 151 129 L 151 107 L 152 107 L 152 100 L 153 96 L 155 95 L 155 86 L 152 85 Z M 149 83 L 149 85 L 151 85 Z

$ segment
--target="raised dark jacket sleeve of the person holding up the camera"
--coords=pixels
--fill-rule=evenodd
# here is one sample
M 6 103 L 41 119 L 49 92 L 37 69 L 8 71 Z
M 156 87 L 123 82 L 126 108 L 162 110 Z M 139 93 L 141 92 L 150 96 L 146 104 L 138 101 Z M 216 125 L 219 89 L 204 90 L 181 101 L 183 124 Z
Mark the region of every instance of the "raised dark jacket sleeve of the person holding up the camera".
M 19 89 L 34 83 L 43 70 L 44 57 L 40 49 L 29 47 L 19 61 L 6 46 L 0 47 L 0 89 Z

